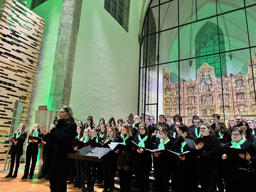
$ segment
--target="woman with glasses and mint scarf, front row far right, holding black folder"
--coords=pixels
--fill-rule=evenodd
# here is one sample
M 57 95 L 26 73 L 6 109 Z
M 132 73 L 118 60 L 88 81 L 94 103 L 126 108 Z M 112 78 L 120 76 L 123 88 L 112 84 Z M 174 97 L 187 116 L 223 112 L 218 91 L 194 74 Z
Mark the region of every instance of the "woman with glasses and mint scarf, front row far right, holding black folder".
M 232 140 L 226 143 L 226 148 L 247 148 L 251 142 L 244 139 L 244 131 L 240 127 L 232 129 Z M 224 151 L 225 152 L 225 151 Z M 225 160 L 224 178 L 226 183 L 226 192 L 252 192 L 256 175 L 248 172 L 248 163 L 252 160 L 249 153 L 238 154 L 238 158 L 230 158 L 225 153 L 222 159 Z

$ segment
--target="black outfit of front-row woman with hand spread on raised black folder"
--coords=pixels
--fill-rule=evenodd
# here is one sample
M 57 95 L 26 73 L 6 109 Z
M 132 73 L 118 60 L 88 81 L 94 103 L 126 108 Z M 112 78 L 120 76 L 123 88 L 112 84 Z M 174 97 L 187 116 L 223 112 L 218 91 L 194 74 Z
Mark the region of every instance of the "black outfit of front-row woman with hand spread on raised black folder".
M 211 137 L 215 144 L 215 148 L 209 151 L 203 151 L 202 149 L 196 150 L 197 158 L 197 178 L 201 184 L 201 188 L 206 192 L 215 192 L 218 158 L 221 154 L 221 144 L 217 137 Z

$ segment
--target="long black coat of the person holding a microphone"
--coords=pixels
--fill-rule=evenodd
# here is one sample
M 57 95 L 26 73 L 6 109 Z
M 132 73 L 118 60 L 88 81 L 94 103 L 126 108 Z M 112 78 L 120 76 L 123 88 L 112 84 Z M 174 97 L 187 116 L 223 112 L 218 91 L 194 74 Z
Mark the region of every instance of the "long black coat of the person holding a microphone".
M 77 136 L 77 125 L 75 122 L 65 124 L 58 120 L 56 127 L 48 134 L 46 141 L 46 175 L 52 177 L 67 177 L 70 166 L 68 153 L 73 152 L 73 142 Z

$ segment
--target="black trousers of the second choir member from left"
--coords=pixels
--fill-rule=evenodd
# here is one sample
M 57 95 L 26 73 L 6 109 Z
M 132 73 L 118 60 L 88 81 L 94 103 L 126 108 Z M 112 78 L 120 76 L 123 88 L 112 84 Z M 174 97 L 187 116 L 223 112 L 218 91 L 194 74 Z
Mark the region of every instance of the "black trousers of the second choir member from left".
M 32 163 L 31 163 L 31 167 L 30 167 L 29 176 L 34 175 L 37 155 L 38 155 L 38 148 L 37 148 L 37 150 L 31 150 L 31 149 L 27 148 L 27 150 L 26 150 L 26 165 L 25 165 L 25 170 L 24 170 L 24 176 L 28 175 L 31 158 L 32 158 Z

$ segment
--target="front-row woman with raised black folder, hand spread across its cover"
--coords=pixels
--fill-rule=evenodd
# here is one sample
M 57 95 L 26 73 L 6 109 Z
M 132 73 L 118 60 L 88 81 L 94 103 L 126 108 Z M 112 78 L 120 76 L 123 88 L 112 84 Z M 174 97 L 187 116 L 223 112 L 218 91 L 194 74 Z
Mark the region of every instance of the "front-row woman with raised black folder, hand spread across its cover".
M 216 134 L 208 123 L 203 123 L 200 126 L 200 131 L 203 137 L 210 136 L 215 147 L 208 150 L 203 150 L 203 142 L 195 144 L 195 154 L 197 156 L 197 176 L 203 192 L 215 192 L 217 184 L 216 177 L 218 158 L 221 154 L 220 140 L 215 137 Z

